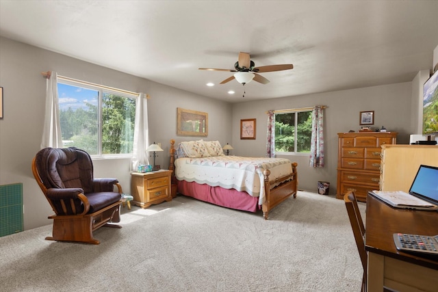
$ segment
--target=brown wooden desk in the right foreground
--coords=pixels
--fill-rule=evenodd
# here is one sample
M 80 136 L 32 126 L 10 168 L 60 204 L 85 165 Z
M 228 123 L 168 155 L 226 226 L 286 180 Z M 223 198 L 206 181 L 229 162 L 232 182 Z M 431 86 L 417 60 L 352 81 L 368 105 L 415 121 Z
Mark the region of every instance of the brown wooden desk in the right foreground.
M 437 291 L 438 256 L 400 252 L 393 233 L 438 235 L 438 212 L 390 207 L 368 194 L 365 250 L 368 251 L 368 291 Z

